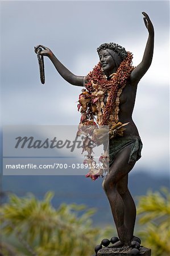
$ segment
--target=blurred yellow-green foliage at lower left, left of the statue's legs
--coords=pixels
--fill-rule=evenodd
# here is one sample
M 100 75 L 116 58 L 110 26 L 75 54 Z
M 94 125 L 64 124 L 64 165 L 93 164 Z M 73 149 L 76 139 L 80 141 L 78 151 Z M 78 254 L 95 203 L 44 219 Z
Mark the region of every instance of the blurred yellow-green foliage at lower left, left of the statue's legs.
M 90 217 L 94 209 L 85 205 L 61 204 L 59 209 L 51 205 L 52 192 L 40 201 L 33 195 L 19 198 L 9 196 L 9 203 L 0 210 L 3 234 L 15 235 L 27 249 L 17 255 L 41 256 L 89 256 L 110 230 L 93 228 Z M 79 216 L 81 210 L 84 212 Z M 6 254 L 7 255 L 7 254 Z M 16 255 L 16 254 L 14 254 Z

